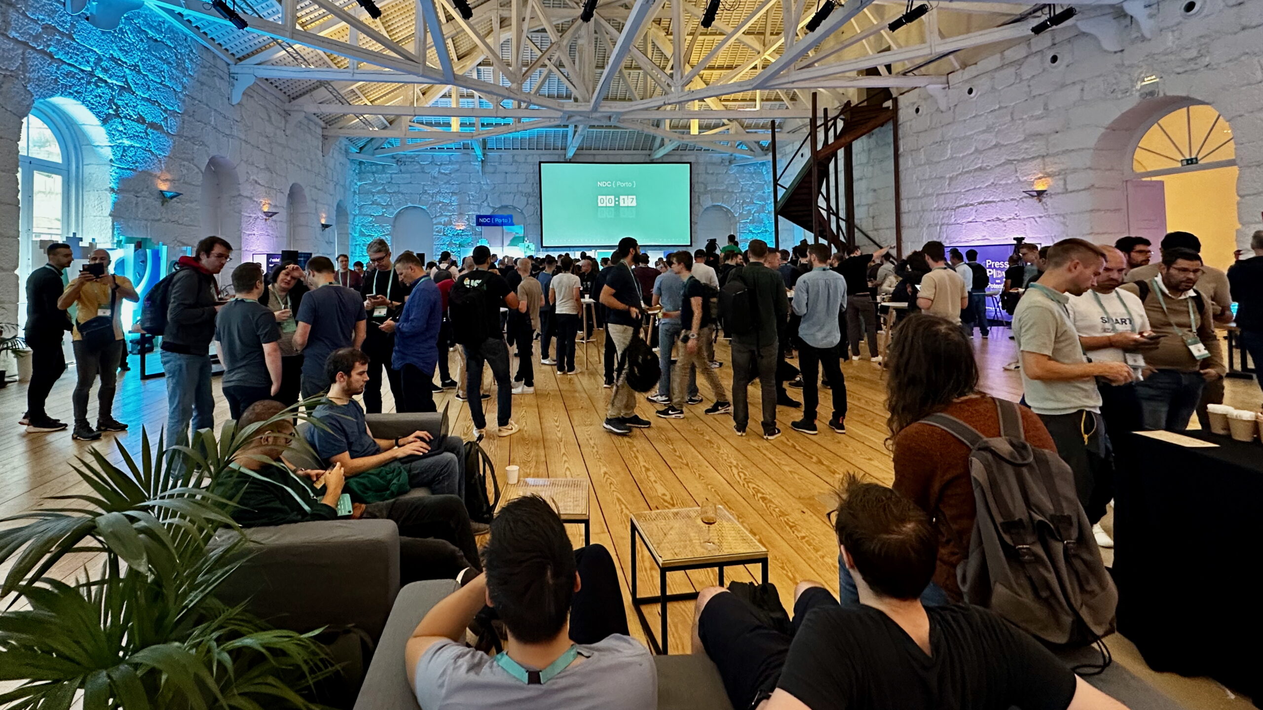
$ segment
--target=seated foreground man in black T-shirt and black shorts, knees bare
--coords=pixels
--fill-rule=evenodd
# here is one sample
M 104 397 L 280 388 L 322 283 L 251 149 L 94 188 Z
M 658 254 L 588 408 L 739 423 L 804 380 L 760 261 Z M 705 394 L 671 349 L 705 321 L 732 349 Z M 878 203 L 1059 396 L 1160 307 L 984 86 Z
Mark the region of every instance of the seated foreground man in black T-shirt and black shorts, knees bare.
M 698 596 L 693 653 L 715 661 L 734 707 L 1125 710 L 995 614 L 922 606 L 937 537 L 899 493 L 847 476 L 834 526 L 860 604 L 801 582 L 792 643 L 726 590 Z

